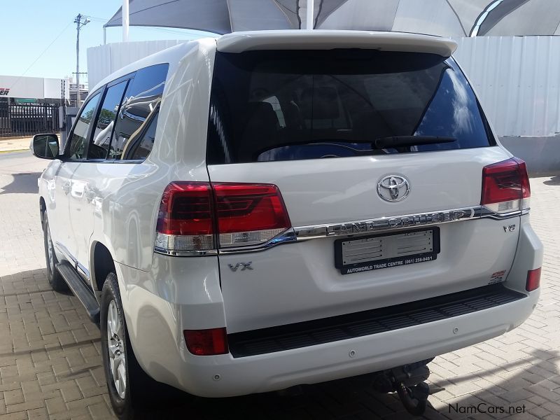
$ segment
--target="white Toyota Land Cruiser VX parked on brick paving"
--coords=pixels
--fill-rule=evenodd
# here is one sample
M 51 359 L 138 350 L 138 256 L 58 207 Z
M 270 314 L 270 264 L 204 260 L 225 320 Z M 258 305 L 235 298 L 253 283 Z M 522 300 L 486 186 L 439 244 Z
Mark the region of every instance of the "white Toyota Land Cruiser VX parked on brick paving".
M 542 244 L 526 165 L 434 36 L 257 31 L 92 89 L 39 179 L 48 279 L 100 323 L 115 412 L 426 364 L 521 324 Z M 151 378 L 151 379 L 150 379 Z

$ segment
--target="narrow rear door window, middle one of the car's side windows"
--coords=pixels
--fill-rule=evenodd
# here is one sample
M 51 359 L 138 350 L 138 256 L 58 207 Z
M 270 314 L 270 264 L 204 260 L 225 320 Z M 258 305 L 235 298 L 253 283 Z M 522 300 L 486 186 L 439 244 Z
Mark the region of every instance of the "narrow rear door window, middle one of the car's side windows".
M 123 100 L 128 80 L 109 87 L 94 126 L 93 140 L 87 152 L 90 159 L 105 159 L 111 144 L 111 134 L 117 117 L 118 107 Z

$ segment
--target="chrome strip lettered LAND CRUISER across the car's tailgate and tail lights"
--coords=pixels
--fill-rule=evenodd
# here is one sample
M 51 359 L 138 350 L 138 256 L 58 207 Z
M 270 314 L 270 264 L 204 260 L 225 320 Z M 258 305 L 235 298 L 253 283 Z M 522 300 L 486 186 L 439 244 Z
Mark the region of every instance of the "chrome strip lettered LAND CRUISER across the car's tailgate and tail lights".
M 154 251 L 155 253 L 163 255 L 183 257 L 260 252 L 281 244 L 293 244 L 295 242 L 309 241 L 311 239 L 321 239 L 326 237 L 371 235 L 376 232 L 391 232 L 394 230 L 442 225 L 444 223 L 454 223 L 459 221 L 479 220 L 482 218 L 491 218 L 496 221 L 502 221 L 528 214 L 529 210 L 530 209 L 523 209 L 510 211 L 505 214 L 498 214 L 484 206 L 462 207 L 460 209 L 426 211 L 425 213 L 386 216 L 362 221 L 297 226 L 276 235 L 276 237 L 270 239 L 265 244 L 255 246 L 238 246 L 236 248 L 221 248 L 218 250 L 211 249 L 207 251 L 166 251 L 164 249 L 155 248 Z

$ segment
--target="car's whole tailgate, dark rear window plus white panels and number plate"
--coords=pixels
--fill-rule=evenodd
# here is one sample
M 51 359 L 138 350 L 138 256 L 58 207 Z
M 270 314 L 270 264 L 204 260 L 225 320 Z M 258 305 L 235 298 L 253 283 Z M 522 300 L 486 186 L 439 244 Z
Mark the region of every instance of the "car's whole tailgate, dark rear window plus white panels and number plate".
M 274 184 L 291 226 L 318 232 L 258 252 L 220 251 L 228 332 L 446 295 L 507 276 L 518 232 L 504 221 L 407 228 L 402 219 L 472 214 L 483 168 L 510 158 L 452 59 L 354 49 L 218 52 L 209 121 L 210 181 Z M 414 136 L 434 141 L 375 146 Z M 437 140 L 443 137 L 450 140 Z M 400 229 L 353 228 L 377 219 L 399 221 Z M 518 217 L 507 220 L 516 224 Z M 394 232 L 411 235 L 379 238 Z

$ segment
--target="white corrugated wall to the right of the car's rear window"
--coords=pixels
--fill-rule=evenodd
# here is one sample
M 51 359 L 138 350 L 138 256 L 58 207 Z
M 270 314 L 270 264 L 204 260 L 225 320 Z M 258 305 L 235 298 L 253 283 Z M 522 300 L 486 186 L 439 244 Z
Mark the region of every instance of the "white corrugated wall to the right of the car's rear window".
M 560 132 L 560 36 L 459 38 L 454 57 L 502 136 Z

